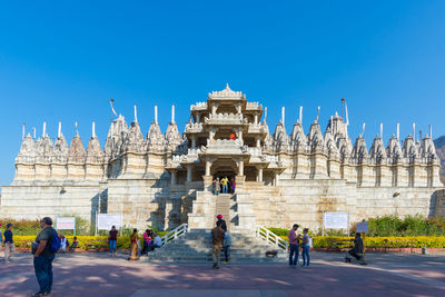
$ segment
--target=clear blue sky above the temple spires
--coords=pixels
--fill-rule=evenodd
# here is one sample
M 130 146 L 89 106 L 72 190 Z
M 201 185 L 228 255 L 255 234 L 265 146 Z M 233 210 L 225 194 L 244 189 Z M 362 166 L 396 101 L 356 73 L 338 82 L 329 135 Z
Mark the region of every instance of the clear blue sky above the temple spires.
M 322 107 L 323 128 L 340 98 L 350 137 L 366 122 L 387 138 L 400 122 L 445 133 L 445 1 L 2 1 L 0 4 L 0 185 L 27 131 L 75 121 L 83 145 L 96 121 L 103 146 L 109 98 L 146 133 L 152 106 L 165 130 L 177 106 L 226 82 L 268 107 L 271 130 L 286 106 L 288 132 L 304 106 L 306 131 Z M 385 142 L 386 142 L 385 140 Z

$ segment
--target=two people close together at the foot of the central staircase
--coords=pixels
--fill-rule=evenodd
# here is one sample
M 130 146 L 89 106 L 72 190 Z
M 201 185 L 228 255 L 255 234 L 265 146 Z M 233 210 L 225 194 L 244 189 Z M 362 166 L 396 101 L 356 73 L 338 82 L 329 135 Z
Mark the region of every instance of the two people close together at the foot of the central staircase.
M 216 227 L 211 230 L 211 245 L 212 245 L 212 259 L 214 259 L 214 268 L 219 268 L 219 261 L 221 257 L 221 249 L 224 250 L 225 264 L 229 261 L 229 253 L 231 246 L 231 236 L 227 231 L 227 224 L 222 219 L 221 215 L 217 216 Z

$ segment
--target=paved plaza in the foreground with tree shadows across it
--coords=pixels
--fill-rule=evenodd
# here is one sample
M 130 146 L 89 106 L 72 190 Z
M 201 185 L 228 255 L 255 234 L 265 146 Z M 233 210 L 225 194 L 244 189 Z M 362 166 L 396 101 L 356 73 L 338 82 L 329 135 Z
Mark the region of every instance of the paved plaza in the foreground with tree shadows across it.
M 344 264 L 343 254 L 312 253 L 308 268 L 281 264 L 129 263 L 106 253 L 58 255 L 52 296 L 281 297 L 445 296 L 445 256 L 368 254 L 367 266 Z M 0 261 L 1 296 L 38 289 L 29 254 Z

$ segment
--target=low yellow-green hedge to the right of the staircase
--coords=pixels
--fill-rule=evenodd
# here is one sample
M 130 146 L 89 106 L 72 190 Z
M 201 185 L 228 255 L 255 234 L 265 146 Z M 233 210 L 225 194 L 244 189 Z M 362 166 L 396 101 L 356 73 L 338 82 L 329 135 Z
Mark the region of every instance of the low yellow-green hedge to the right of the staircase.
M 287 236 L 280 238 L 288 240 Z M 347 236 L 315 236 L 315 248 L 348 248 L 353 237 Z M 407 236 L 407 237 L 365 237 L 365 246 L 368 248 L 445 248 L 445 236 Z

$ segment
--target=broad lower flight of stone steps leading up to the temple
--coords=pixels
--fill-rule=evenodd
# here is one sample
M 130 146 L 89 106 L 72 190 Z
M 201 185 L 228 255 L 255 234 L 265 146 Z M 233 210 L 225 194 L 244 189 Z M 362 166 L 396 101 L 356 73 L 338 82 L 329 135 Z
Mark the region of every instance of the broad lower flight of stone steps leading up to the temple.
M 255 232 L 230 232 L 231 263 L 286 263 L 287 253 L 257 238 Z M 278 250 L 276 258 L 266 257 L 267 250 Z M 192 229 L 166 246 L 151 251 L 146 257 L 154 261 L 211 261 L 210 230 Z M 221 260 L 224 253 L 221 253 Z

